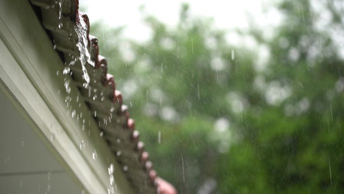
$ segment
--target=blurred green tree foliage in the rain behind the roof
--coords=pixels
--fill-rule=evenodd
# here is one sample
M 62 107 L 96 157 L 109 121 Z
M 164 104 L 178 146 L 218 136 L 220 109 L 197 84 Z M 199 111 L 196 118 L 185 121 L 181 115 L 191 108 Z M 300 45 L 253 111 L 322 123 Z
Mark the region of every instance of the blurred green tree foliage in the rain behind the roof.
M 342 13 L 323 4 L 333 16 L 327 27 L 343 30 Z M 180 193 L 198 192 L 209 178 L 217 182 L 211 193 L 344 189 L 338 44 L 317 27 L 321 13 L 309 1 L 278 7 L 284 21 L 271 39 L 262 29 L 245 34 L 268 49 L 263 70 L 256 50 L 229 45 L 211 20 L 190 17 L 188 5 L 172 29 L 147 16 L 153 35 L 146 43 L 124 40 L 121 30 L 94 30 L 113 40 L 100 39 L 109 72 L 155 169 Z

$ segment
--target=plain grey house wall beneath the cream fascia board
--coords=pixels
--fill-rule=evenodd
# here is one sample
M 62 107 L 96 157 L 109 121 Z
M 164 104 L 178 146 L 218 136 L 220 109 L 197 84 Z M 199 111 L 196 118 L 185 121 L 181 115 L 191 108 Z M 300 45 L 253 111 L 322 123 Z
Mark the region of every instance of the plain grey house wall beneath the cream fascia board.
M 1 90 L 0 107 L 0 193 L 87 193 Z

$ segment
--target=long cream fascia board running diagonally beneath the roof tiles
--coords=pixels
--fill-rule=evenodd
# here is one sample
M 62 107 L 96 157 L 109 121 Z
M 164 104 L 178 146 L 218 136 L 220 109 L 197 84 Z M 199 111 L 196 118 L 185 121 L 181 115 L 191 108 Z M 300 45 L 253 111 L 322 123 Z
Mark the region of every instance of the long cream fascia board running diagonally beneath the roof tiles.
M 33 123 L 62 166 L 89 193 L 107 193 L 107 168 L 112 163 L 117 193 L 133 193 L 71 79 L 71 92 L 65 91 L 64 79 L 69 75 L 62 74 L 64 65 L 27 1 L 0 2 L 0 38 L 2 88 Z M 67 96 L 74 99 L 68 107 Z M 71 110 L 82 113 L 86 124 L 72 117 Z M 49 141 L 51 137 L 53 141 Z M 80 149 L 81 141 L 85 147 Z M 92 157 L 95 150 L 96 160 Z

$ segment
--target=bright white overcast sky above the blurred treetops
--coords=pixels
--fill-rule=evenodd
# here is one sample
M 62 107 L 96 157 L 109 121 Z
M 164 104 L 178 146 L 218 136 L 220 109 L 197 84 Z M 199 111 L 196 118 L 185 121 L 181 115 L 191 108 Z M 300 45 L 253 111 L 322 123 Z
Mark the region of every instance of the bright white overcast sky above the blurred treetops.
M 91 25 L 95 21 L 103 20 L 104 25 L 126 26 L 125 36 L 131 39 L 144 41 L 150 36 L 150 31 L 142 22 L 139 7 L 144 5 L 145 12 L 155 16 L 163 23 L 170 26 L 176 25 L 182 3 L 191 7 L 191 15 L 212 17 L 215 26 L 220 29 L 231 30 L 234 28 L 246 29 L 248 27 L 247 15 L 259 21 L 261 27 L 271 29 L 280 22 L 280 15 L 273 9 L 274 0 L 81 0 L 81 8 L 90 18 Z M 264 10 L 269 10 L 264 14 Z

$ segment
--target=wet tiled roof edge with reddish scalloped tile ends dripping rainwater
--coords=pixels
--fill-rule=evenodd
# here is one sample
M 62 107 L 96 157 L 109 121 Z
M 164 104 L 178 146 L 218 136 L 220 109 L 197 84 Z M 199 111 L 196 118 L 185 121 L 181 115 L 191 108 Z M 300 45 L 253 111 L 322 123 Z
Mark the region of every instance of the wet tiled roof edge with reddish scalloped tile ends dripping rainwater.
M 128 107 L 123 105 L 121 92 L 116 90 L 114 76 L 107 72 L 106 58 L 99 55 L 98 39 L 89 34 L 88 16 L 78 11 L 77 0 L 30 1 L 40 8 L 38 17 L 64 61 L 63 74 L 72 75 L 89 113 L 98 122 L 99 129 L 94 130 L 100 130 L 137 193 L 156 193 L 161 178 L 157 177 L 148 160 L 149 154 L 139 141 L 139 132 L 135 130 Z M 68 82 L 64 83 L 67 93 Z

